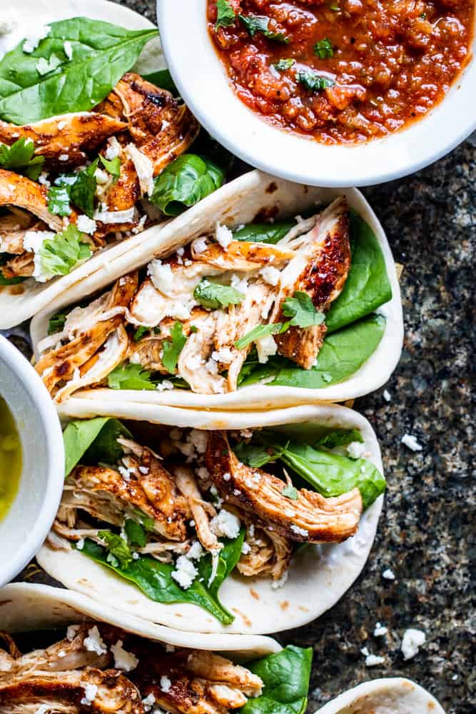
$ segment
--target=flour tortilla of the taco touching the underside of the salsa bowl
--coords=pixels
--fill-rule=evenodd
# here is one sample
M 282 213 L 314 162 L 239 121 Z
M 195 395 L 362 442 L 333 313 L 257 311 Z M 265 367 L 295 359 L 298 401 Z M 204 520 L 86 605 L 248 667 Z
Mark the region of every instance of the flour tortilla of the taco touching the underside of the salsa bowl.
M 38 357 L 37 345 L 48 333 L 49 318 L 66 305 L 77 303 L 85 296 L 105 289 L 112 281 L 125 273 L 146 265 L 154 257 L 163 256 L 185 245 L 198 236 L 213 230 L 217 221 L 227 226 L 239 226 L 250 223 L 261 212 L 278 209 L 277 217 L 296 216 L 315 206 L 316 203 L 327 205 L 334 198 L 345 195 L 351 208 L 360 213 L 378 238 L 387 266 L 393 298 L 378 308 L 378 313 L 385 315 L 387 324 L 380 345 L 368 361 L 350 378 L 322 389 L 295 388 L 253 384 L 238 388 L 228 394 L 197 394 L 188 390 L 136 391 L 136 390 L 80 390 L 61 404 L 60 410 L 65 416 L 77 416 L 79 403 L 86 412 L 94 413 L 101 404 L 116 404 L 116 416 L 125 416 L 123 408 L 135 411 L 141 416 L 143 408 L 160 414 L 161 406 L 207 410 L 260 410 L 275 409 L 295 404 L 313 404 L 315 401 L 345 401 L 368 394 L 382 386 L 395 369 L 400 358 L 403 339 L 402 304 L 397 281 L 395 262 L 378 218 L 373 213 L 362 193 L 356 188 L 337 190 L 335 188 L 314 188 L 301 186 L 273 178 L 260 171 L 251 171 L 236 178 L 201 203 L 190 208 L 163 228 L 160 232 L 149 234 L 141 245 L 123 253 L 115 261 L 104 266 L 72 286 L 51 305 L 36 315 L 31 322 L 31 340 Z M 134 405 L 134 406 L 132 406 Z M 159 418 L 159 416 L 157 416 Z M 156 421 L 153 418 L 152 421 Z

